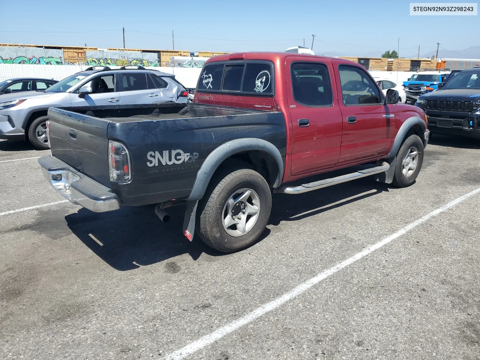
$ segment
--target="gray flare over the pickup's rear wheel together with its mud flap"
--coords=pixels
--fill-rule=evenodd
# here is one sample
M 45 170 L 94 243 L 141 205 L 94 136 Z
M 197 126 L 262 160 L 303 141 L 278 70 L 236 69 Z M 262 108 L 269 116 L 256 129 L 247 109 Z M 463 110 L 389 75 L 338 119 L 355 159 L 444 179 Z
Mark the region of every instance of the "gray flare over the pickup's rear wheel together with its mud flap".
M 242 138 L 230 140 L 225 144 L 218 146 L 207 156 L 202 164 L 197 173 L 195 183 L 193 184 L 192 192 L 186 201 L 185 216 L 183 218 L 183 234 L 188 240 L 192 241 L 193 239 L 198 201 L 204 196 L 208 183 L 212 179 L 215 170 L 229 156 L 249 150 L 262 151 L 275 158 L 278 167 L 278 176 L 273 186 L 280 186 L 284 169 L 283 158 L 274 144 L 258 138 Z

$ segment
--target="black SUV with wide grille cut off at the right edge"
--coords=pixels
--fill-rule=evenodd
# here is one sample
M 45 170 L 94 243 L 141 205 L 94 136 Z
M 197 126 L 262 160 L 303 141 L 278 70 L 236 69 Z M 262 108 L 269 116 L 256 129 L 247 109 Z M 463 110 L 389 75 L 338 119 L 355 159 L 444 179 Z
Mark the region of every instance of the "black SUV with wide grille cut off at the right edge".
M 438 88 L 415 104 L 425 110 L 430 132 L 480 139 L 480 67 L 463 70 Z

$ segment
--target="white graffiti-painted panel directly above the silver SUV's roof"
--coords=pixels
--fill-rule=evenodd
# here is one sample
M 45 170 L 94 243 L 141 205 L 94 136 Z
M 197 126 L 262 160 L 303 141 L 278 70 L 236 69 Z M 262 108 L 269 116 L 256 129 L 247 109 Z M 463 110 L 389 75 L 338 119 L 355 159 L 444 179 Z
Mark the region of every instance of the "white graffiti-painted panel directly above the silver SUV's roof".
M 158 54 L 133 51 L 85 51 L 89 66 L 158 66 Z

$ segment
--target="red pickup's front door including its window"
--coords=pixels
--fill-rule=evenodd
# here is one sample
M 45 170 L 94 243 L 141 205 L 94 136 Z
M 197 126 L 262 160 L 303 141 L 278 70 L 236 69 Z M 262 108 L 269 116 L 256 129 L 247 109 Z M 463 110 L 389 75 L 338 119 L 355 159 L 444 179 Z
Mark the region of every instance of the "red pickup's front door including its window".
M 359 66 L 334 60 L 343 135 L 338 165 L 386 155 L 395 135 L 395 116 L 380 89 Z

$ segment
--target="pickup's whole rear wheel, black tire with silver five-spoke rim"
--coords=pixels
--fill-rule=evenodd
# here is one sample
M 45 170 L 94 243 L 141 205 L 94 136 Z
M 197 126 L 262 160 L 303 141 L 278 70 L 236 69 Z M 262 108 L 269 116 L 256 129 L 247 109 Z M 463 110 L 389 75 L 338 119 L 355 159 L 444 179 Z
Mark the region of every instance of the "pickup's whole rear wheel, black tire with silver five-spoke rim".
M 249 168 L 230 169 L 212 179 L 199 203 L 197 232 L 221 252 L 245 249 L 262 235 L 272 194 L 265 179 Z

